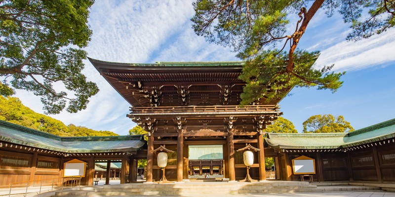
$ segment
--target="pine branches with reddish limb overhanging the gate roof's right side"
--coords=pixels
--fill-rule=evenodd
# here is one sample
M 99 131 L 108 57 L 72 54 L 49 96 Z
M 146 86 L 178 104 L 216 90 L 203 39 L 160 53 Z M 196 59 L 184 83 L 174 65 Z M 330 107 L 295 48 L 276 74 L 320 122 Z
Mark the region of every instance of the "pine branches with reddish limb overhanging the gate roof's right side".
M 294 86 L 317 86 L 332 92 L 342 86 L 340 77 L 345 72 L 331 72 L 333 65 L 316 69 L 312 65 L 319 52 L 297 49 L 318 9 L 324 9 L 328 16 L 339 11 L 344 21 L 352 24 L 350 40 L 395 25 L 395 3 L 391 0 L 197 0 L 193 5 L 195 33 L 232 47 L 237 57 L 246 61 L 240 75 L 246 82 L 240 95 L 242 105 L 272 99 Z M 370 16 L 359 21 L 367 9 Z M 292 34 L 286 35 L 289 15 L 299 20 Z

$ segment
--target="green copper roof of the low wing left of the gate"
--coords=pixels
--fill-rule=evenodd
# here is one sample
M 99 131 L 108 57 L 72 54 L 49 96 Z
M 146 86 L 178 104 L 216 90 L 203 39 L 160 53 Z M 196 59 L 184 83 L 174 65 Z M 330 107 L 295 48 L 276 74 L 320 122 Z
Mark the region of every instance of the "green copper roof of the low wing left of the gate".
M 143 135 L 60 137 L 0 121 L 0 141 L 63 153 L 125 152 L 141 149 Z

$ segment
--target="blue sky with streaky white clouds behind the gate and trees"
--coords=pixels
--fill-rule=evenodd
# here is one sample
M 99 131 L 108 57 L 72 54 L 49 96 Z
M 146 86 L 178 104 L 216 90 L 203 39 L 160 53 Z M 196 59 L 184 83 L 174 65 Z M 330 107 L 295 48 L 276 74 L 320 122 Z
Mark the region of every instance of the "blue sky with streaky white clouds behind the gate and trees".
M 85 50 L 91 58 L 124 63 L 238 60 L 230 48 L 197 36 L 190 22 L 193 15 L 190 0 L 97 0 L 89 18 L 92 40 Z M 294 17 L 291 21 L 298 19 L 296 15 L 289 17 Z M 316 114 L 343 115 L 355 129 L 395 118 L 395 30 L 347 42 L 348 26 L 341 16 L 327 18 L 319 11 L 298 45 L 300 49 L 321 51 L 317 67 L 335 64 L 333 70 L 347 71 L 343 87 L 334 94 L 294 88 L 292 96 L 279 103 L 283 117 L 292 121 L 299 132 L 302 123 Z M 51 117 L 65 124 L 127 134 L 135 126 L 126 118 L 130 105 L 88 61 L 84 74 L 100 88 L 87 109 Z M 43 113 L 40 98 L 32 93 L 17 91 L 16 97 Z

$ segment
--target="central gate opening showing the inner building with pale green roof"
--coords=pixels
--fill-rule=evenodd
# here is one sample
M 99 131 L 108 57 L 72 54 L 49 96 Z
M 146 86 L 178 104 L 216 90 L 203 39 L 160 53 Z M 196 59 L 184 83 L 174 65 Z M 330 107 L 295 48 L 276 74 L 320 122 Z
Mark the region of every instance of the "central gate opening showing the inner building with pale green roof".
M 188 178 L 223 178 L 223 145 L 189 145 Z

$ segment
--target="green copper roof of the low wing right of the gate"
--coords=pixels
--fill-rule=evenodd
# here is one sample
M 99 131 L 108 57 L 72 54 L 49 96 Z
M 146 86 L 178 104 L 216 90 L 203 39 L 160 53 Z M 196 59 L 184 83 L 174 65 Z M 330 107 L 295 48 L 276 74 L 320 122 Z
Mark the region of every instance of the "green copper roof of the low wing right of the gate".
M 276 149 L 338 149 L 395 137 L 395 119 L 349 133 L 268 133 L 265 141 Z

